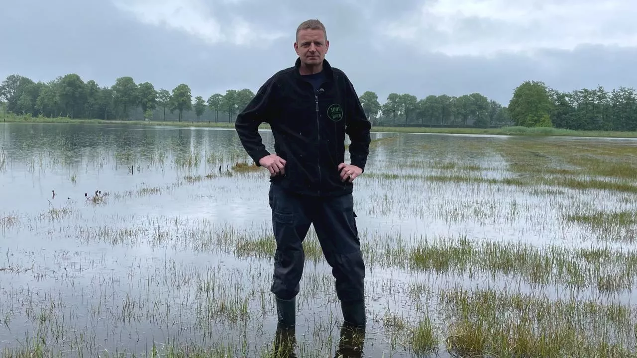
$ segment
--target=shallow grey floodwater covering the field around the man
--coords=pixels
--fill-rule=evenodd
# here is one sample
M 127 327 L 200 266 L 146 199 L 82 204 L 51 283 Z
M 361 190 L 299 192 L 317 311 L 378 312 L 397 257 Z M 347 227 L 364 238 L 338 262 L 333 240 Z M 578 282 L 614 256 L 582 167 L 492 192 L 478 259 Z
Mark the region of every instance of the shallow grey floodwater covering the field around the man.
M 273 150 L 271 134 L 262 137 Z M 454 246 L 462 237 L 500 247 L 631 249 L 637 220 L 601 241 L 603 233 L 564 215 L 635 212 L 634 178 L 623 178 L 629 187 L 617 191 L 515 182 L 547 178 L 540 169 L 562 161 L 555 152 L 510 150 L 573 143 L 599 152 L 635 145 L 373 133 L 354 192 L 368 258 L 362 355 L 415 356 L 413 327 L 426 315 L 436 354 L 447 355 L 445 290 L 515 287 L 552 299 L 632 304 L 630 275 L 619 289 L 602 289 L 604 275 L 622 270 L 610 261 L 598 267 L 573 260 L 559 275 L 539 278 L 512 269 L 515 262 L 503 268 L 454 250 L 441 249 L 450 258 L 440 266 L 431 258 L 419 268 L 401 262 L 420 262 L 404 252 L 423 243 Z M 45 347 L 65 356 L 139 355 L 185 345 L 231 356 L 267 354 L 276 331 L 268 173 L 236 169 L 238 162 L 251 163 L 227 129 L 0 125 L 0 347 Z M 297 302 L 297 356 L 333 356 L 342 316 L 320 252 L 306 259 Z M 619 337 L 629 347 L 637 321 L 631 322 L 624 334 L 606 327 L 613 334 L 605 339 Z

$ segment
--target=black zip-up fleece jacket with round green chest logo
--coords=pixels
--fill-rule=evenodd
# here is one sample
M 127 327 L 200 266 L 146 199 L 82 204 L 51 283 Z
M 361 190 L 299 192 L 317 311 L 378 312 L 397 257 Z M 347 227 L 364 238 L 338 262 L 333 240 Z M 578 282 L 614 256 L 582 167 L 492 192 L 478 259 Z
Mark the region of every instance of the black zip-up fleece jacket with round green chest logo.
M 363 171 L 369 154 L 369 130 L 354 86 L 345 73 L 323 61 L 326 81 L 314 90 L 299 74 L 301 61 L 278 71 L 239 113 L 235 128 L 243 148 L 257 165 L 269 155 L 257 131 L 270 125 L 276 155 L 287 161 L 285 175 L 270 181 L 283 189 L 313 196 L 352 193 L 341 181 L 338 165 L 345 161 L 345 134 L 350 138 L 350 164 Z

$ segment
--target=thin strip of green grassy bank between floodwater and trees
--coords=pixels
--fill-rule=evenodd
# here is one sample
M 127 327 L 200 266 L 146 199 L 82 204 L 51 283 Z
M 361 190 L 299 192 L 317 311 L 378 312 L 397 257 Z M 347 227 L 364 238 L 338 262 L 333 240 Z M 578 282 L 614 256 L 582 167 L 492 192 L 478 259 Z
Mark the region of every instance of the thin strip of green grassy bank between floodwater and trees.
M 4 113 L 0 122 L 4 123 L 51 123 L 51 124 L 127 124 L 127 125 L 169 125 L 173 127 L 209 127 L 209 128 L 231 128 L 234 123 L 228 122 L 197 122 L 197 121 L 163 121 L 163 120 L 103 120 L 103 119 L 81 119 L 69 117 L 32 117 L 31 115 L 14 115 Z M 269 129 L 268 124 L 261 124 L 261 129 Z M 476 127 L 391 127 L 373 126 L 372 132 L 403 132 L 403 133 L 425 133 L 425 134 L 485 134 L 485 135 L 505 135 L 505 136 L 574 136 L 589 138 L 637 138 L 637 131 L 576 131 L 572 129 L 561 129 L 555 127 L 524 127 L 524 126 L 504 126 L 499 128 L 476 128 Z

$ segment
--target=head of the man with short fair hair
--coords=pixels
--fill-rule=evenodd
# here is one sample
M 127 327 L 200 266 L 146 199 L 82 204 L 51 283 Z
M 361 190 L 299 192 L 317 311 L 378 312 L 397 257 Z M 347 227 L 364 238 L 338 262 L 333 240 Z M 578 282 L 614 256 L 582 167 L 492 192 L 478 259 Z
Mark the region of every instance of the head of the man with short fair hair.
M 322 64 L 327 48 L 327 31 L 320 21 L 306 20 L 297 27 L 294 50 L 299 55 L 301 63 L 310 67 Z

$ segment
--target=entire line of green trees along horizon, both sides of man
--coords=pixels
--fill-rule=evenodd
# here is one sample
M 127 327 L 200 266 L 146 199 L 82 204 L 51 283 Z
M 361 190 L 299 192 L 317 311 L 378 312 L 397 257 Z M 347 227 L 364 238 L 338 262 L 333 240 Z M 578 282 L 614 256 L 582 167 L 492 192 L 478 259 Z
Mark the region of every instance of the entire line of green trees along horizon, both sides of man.
M 71 73 L 50 82 L 10 75 L 0 84 L 0 101 L 18 115 L 99 119 L 206 120 L 233 122 L 254 93 L 229 89 L 207 99 L 192 98 L 184 83 L 172 90 L 155 89 L 131 76 L 110 87 L 84 82 Z M 362 107 L 374 125 L 436 127 L 548 126 L 578 130 L 637 130 L 637 93 L 620 87 L 561 92 L 543 82 L 527 81 L 514 91 L 508 106 L 479 93 L 426 96 L 390 93 L 381 104 L 373 91 L 362 92 Z

